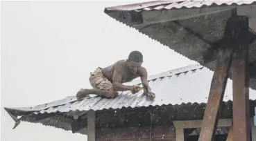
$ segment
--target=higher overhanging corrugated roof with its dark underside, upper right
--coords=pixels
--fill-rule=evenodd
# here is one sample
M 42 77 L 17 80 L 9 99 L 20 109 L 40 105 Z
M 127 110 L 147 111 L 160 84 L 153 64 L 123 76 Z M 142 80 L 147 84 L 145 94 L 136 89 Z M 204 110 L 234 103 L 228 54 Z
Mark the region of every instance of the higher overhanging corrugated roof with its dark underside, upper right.
M 221 7 L 231 6 L 230 9 L 234 8 L 233 6 L 236 6 L 238 10 L 237 12 L 241 12 L 243 15 L 247 15 L 248 11 L 246 10 L 250 9 L 251 11 L 253 11 L 253 9 L 255 8 L 255 4 L 256 1 L 253 0 L 150 1 L 146 3 L 135 3 L 126 6 L 114 6 L 110 8 L 105 8 L 105 13 L 110 17 L 116 19 L 117 21 L 126 24 L 126 26 L 135 28 L 142 34 L 148 36 L 149 38 L 155 41 L 159 41 L 160 44 L 164 46 L 169 46 L 169 48 L 176 51 L 176 53 L 179 53 L 180 55 L 183 55 L 191 60 L 194 60 L 200 63 L 201 65 L 210 68 L 213 71 L 214 65 L 212 64 L 214 64 L 214 60 L 208 62 L 205 59 L 204 53 L 208 53 L 209 50 L 212 50 L 209 51 L 209 55 L 215 53 L 215 49 L 212 45 L 214 43 L 218 43 L 218 41 L 222 39 L 225 23 L 230 17 L 230 10 L 222 12 L 216 10 L 216 13 L 211 15 L 198 15 L 198 17 L 191 17 L 187 19 L 178 20 L 178 17 L 187 17 L 189 15 L 189 12 L 185 12 L 184 10 L 177 11 L 173 10 L 173 8 L 191 8 L 191 11 L 195 11 L 195 9 L 198 8 L 198 11 L 200 11 L 200 8 L 205 8 L 205 10 L 207 10 L 208 7 L 219 8 L 220 5 Z M 241 5 L 250 5 L 250 8 L 241 7 Z M 158 12 L 157 10 L 160 10 L 160 12 Z M 135 14 L 135 12 L 130 11 L 142 12 L 139 12 L 139 14 Z M 176 20 L 178 20 L 176 22 L 168 21 L 169 19 L 165 19 L 167 18 L 167 15 L 171 15 L 171 13 L 177 14 L 178 12 L 187 14 L 174 15 L 173 20 L 175 20 L 176 18 Z M 256 76 L 252 73 L 256 66 L 256 18 L 253 15 L 253 12 L 249 13 L 250 14 L 247 16 L 250 17 L 249 26 L 251 28 L 250 35 L 252 42 L 249 45 L 249 63 L 251 65 L 248 69 L 250 70 L 250 88 L 256 90 Z M 198 13 L 194 12 L 194 15 L 196 14 Z M 153 16 L 151 17 L 150 15 Z M 163 19 L 159 17 L 162 17 Z M 157 22 L 157 20 L 159 21 L 159 23 L 155 23 Z M 151 21 L 154 22 L 151 23 Z M 186 35 L 191 35 L 194 37 L 189 38 Z M 199 38 L 195 37 L 198 35 L 200 36 Z

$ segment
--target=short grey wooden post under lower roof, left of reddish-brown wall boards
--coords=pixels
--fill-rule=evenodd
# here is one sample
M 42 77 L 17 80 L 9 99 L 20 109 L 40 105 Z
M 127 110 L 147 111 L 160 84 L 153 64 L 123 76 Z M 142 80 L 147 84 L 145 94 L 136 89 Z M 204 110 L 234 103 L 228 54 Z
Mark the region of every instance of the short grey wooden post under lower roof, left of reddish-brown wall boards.
M 87 140 L 96 141 L 95 111 L 92 110 L 87 113 Z

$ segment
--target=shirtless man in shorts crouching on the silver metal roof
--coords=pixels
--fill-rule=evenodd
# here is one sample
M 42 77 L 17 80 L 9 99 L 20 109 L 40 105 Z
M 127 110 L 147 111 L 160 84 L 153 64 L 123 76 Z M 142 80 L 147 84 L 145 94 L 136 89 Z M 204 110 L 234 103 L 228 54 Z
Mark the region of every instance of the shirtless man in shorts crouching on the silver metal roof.
M 146 68 L 142 67 L 142 62 L 142 53 L 133 51 L 126 60 L 119 60 L 106 68 L 96 68 L 89 77 L 89 83 L 93 88 L 81 88 L 76 94 L 76 97 L 80 99 L 88 94 L 95 94 L 102 97 L 114 98 L 118 95 L 117 91 L 131 91 L 133 94 L 137 93 L 140 88 L 139 86 L 125 86 L 122 83 L 130 82 L 140 77 L 142 83 L 148 86 L 148 74 Z M 151 93 L 149 86 L 148 91 Z

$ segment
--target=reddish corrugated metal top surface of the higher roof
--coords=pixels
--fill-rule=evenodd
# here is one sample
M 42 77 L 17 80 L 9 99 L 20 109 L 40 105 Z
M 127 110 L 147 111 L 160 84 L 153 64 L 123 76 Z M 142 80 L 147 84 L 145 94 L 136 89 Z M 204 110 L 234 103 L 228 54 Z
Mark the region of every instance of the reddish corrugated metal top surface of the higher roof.
M 106 8 L 108 11 L 142 11 L 142 10 L 171 10 L 174 8 L 201 8 L 203 6 L 240 6 L 251 4 L 253 0 L 189 0 L 189 1 L 182 1 L 182 0 L 173 0 L 173 1 L 149 1 L 144 3 L 135 3 L 126 6 L 114 6 L 110 8 Z

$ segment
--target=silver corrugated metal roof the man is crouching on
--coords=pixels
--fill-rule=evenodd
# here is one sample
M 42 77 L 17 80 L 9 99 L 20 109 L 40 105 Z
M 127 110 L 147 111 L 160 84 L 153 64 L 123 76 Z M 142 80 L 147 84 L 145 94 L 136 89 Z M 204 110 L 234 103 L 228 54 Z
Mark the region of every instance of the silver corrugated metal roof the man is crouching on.
M 182 103 L 206 103 L 210 91 L 213 72 L 200 65 L 178 68 L 149 77 L 149 85 L 155 93 L 155 101 L 146 100 L 139 92 L 135 95 L 126 91 L 119 93 L 114 99 L 106 99 L 95 95 L 76 100 L 66 97 L 63 100 L 50 102 L 34 107 L 12 108 L 12 111 L 34 111 L 37 113 L 56 113 L 69 111 L 99 111 L 103 109 L 121 109 L 122 107 L 142 107 L 176 105 Z M 137 79 L 130 84 L 139 84 Z M 232 100 L 232 82 L 228 80 L 223 101 Z M 256 91 L 250 90 L 250 100 L 256 100 Z

